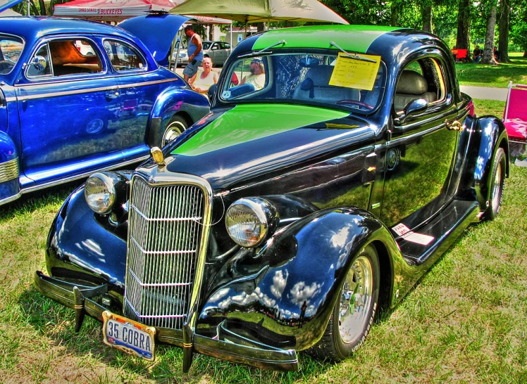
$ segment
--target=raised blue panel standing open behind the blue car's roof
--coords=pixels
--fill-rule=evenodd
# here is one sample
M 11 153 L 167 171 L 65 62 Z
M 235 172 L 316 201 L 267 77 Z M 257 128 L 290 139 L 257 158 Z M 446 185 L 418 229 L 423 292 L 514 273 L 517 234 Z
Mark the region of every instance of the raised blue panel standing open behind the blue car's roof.
M 159 65 L 168 65 L 168 52 L 172 48 L 175 35 L 190 18 L 180 15 L 147 15 L 130 18 L 119 27 L 135 34 L 147 46 Z

